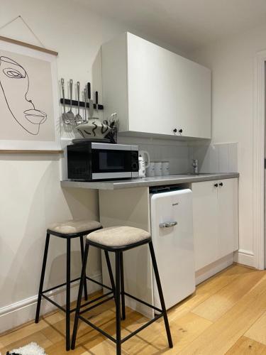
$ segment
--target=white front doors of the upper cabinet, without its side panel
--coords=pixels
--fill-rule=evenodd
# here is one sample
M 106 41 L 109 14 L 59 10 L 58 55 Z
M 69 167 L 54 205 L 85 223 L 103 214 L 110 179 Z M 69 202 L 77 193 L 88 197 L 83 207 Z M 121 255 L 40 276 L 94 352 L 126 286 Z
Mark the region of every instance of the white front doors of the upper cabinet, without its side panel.
M 211 138 L 211 72 L 127 34 L 129 130 Z

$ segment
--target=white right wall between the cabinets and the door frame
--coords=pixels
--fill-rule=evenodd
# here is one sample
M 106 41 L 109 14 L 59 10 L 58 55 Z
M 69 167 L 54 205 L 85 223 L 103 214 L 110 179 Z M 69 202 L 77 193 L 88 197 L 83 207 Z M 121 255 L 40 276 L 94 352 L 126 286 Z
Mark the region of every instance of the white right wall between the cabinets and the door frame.
M 220 40 L 191 53 L 212 70 L 214 143 L 238 142 L 238 261 L 256 266 L 253 256 L 253 119 L 255 55 L 266 48 L 266 26 Z

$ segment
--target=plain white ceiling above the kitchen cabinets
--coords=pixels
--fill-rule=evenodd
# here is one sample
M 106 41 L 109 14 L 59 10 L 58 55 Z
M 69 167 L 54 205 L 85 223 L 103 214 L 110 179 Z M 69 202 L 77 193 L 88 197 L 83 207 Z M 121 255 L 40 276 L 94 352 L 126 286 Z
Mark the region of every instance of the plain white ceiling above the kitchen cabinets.
M 266 0 L 76 0 L 182 51 L 266 23 Z

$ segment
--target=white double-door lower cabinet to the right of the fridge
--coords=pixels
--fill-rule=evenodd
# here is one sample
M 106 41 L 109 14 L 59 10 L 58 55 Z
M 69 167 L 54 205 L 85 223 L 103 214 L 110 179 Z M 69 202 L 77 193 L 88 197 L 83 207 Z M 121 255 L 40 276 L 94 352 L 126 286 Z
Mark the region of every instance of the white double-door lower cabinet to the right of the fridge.
M 192 183 L 196 271 L 238 249 L 238 179 Z

